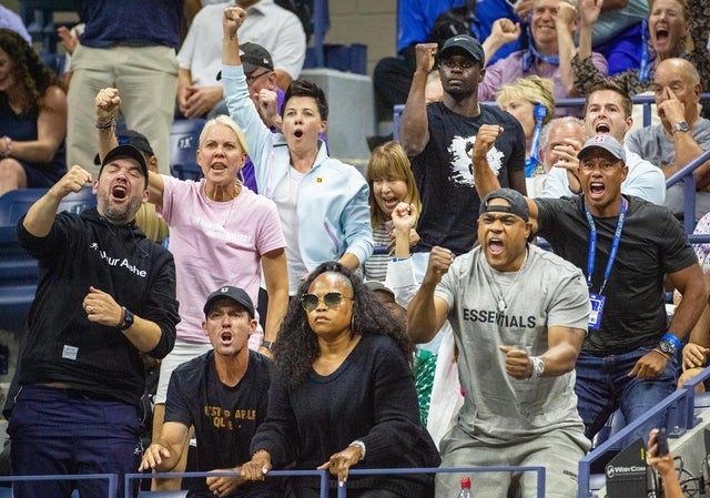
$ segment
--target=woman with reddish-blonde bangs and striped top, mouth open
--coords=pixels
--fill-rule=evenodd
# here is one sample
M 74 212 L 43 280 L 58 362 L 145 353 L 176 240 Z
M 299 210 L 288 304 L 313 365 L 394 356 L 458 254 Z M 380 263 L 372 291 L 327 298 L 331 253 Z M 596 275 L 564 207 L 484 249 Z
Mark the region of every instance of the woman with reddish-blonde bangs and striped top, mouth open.
M 414 180 L 409 159 L 397 142 L 385 142 L 369 156 L 367 174 L 369 186 L 369 221 L 375 241 L 375 254 L 365 262 L 365 280 L 384 282 L 387 262 L 394 251 L 392 211 L 400 202 L 414 204 L 422 212 L 419 189 Z M 413 228 L 409 244 L 415 245 L 419 236 Z

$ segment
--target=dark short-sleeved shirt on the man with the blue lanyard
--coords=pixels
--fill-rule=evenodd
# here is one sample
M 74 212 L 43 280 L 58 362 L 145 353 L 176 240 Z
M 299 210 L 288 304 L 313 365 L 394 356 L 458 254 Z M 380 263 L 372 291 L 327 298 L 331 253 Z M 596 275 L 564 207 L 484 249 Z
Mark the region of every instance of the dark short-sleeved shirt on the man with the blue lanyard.
M 653 346 L 667 331 L 663 276 L 698 263 L 682 226 L 666 207 L 642 199 L 628 200 L 621 242 L 604 295 L 599 329 L 590 329 L 582 350 L 594 355 L 628 353 Z M 587 277 L 590 228 L 582 196 L 537 199 L 538 234 L 556 254 Z M 590 292 L 599 293 L 618 216 L 595 217 L 597 252 Z

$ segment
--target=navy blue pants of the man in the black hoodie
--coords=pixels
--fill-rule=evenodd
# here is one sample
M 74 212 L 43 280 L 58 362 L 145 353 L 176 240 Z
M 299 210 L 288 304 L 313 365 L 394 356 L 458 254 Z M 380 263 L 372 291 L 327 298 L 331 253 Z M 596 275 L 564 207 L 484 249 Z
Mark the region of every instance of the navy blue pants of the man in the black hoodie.
M 8 434 L 13 475 L 118 474 L 119 498 L 123 475 L 141 461 L 136 408 L 75 390 L 22 386 Z M 74 486 L 82 498 L 108 496 L 106 479 L 18 481 L 12 490 L 19 498 L 69 498 Z

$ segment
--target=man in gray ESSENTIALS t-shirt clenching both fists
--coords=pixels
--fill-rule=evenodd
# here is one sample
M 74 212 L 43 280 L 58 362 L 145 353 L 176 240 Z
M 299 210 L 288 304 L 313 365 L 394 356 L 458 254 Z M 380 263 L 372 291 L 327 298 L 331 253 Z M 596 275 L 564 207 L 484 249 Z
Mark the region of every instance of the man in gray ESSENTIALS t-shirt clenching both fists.
M 458 257 L 433 247 L 407 313 L 415 343 L 430 341 L 448 318 L 459 352 L 466 396 L 439 444 L 442 466 L 545 466 L 546 489 L 575 496 L 577 466 L 589 449 L 574 393 L 589 316 L 584 276 L 527 242 L 532 223 L 519 192 L 493 191 L 479 213 L 480 245 Z M 462 477 L 437 475 L 436 496 L 455 496 Z M 537 496 L 531 472 L 474 479 L 476 497 L 517 488 L 524 498 Z

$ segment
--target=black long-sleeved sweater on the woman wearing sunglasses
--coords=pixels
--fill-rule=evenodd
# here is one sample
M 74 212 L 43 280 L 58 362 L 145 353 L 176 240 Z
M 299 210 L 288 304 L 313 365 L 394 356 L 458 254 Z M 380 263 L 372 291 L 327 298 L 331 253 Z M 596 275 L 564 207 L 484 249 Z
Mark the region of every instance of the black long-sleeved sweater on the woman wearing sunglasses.
M 388 336 L 365 334 L 331 375 L 312 370 L 296 388 L 275 376 L 268 413 L 252 439 L 252 453 L 266 449 L 274 466 L 295 461 L 315 469 L 353 440 L 366 446 L 352 468 L 437 467 L 440 458 L 419 420 L 417 393 L 404 354 Z M 433 496 L 432 475 L 348 476 L 352 489 L 386 489 L 406 498 Z M 293 479 L 292 487 L 317 488 Z M 331 486 L 336 478 L 331 476 Z

